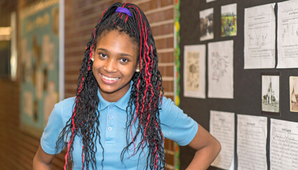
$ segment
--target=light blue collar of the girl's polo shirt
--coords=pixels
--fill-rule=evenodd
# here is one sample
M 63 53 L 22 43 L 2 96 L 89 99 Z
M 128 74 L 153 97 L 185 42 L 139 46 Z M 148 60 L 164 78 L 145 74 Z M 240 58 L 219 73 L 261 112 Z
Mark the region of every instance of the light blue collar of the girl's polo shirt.
M 128 103 L 128 101 L 130 101 L 131 91 L 132 91 L 132 82 L 130 82 L 130 89 L 128 89 L 128 91 L 125 93 L 125 95 L 123 95 L 122 98 L 120 98 L 120 100 L 118 100 L 117 102 L 108 102 L 107 100 L 104 100 L 104 98 L 102 98 L 102 95 L 100 94 L 100 89 L 98 88 L 97 95 L 98 95 L 98 98 L 100 98 L 100 103 L 98 105 L 98 110 L 102 111 L 103 109 L 105 109 L 109 105 L 114 104 L 117 107 L 119 107 L 120 109 L 123 109 L 123 110 L 126 111 L 127 103 Z

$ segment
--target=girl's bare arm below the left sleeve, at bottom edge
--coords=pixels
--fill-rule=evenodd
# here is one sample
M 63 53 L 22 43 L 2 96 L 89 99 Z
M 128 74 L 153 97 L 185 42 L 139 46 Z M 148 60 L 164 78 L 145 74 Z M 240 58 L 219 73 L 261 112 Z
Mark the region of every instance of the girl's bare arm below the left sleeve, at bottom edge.
M 55 155 L 49 155 L 39 146 L 38 151 L 33 159 L 33 170 L 52 169 L 52 160 Z

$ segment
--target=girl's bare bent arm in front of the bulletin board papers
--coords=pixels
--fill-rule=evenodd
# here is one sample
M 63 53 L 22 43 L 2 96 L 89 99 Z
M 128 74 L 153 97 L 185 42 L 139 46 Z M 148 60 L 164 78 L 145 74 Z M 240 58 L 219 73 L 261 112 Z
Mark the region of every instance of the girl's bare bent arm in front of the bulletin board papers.
M 219 141 L 201 125 L 198 125 L 198 132 L 188 146 L 194 148 L 196 153 L 187 170 L 207 169 L 221 150 Z

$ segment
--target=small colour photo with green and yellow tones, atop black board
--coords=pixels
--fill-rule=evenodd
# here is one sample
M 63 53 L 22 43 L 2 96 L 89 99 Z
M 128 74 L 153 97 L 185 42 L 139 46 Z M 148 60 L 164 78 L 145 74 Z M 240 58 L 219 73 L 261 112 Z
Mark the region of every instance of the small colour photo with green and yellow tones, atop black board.
M 221 6 L 221 37 L 237 35 L 237 3 Z

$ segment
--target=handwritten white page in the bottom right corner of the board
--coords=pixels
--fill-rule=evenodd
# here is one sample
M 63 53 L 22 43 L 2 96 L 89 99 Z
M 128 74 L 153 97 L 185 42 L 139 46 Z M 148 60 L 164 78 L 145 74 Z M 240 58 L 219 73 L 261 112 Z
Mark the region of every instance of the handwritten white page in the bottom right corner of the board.
M 298 169 L 298 123 L 270 120 L 270 169 Z

